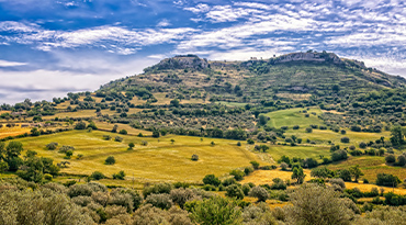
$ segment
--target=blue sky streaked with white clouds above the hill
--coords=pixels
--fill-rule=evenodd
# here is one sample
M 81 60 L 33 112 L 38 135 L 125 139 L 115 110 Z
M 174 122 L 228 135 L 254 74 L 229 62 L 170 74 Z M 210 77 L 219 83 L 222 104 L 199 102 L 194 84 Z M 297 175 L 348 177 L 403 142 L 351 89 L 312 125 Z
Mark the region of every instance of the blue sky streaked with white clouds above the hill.
M 403 0 L 0 0 L 0 103 L 94 91 L 180 54 L 327 50 L 406 77 Z

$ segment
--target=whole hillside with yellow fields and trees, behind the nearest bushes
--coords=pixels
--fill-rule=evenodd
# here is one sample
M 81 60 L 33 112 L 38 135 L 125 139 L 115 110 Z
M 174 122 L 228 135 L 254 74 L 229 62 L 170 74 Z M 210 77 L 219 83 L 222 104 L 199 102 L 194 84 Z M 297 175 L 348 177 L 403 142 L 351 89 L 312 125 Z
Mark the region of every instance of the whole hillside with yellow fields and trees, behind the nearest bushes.
M 194 209 L 224 204 L 275 224 L 298 194 L 309 205 L 342 201 L 359 224 L 406 205 L 405 83 L 332 53 L 185 55 L 95 92 L 3 104 L 0 201 L 57 193 L 98 224 L 179 212 L 185 223 L 168 224 L 192 224 Z

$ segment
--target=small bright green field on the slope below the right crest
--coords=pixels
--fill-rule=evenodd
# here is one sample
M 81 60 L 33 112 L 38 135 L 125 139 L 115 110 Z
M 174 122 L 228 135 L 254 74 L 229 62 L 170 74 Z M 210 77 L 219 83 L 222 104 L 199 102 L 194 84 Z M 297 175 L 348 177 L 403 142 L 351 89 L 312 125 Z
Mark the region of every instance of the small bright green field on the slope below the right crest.
M 292 128 L 294 125 L 300 125 L 303 127 L 308 127 L 311 124 L 323 125 L 323 121 L 317 117 L 317 115 L 322 114 L 319 109 L 312 108 L 308 110 L 307 113 L 315 112 L 317 114 L 309 114 L 308 117 L 305 117 L 305 113 L 300 113 L 300 111 L 303 110 L 305 109 L 295 108 L 267 113 L 266 115 L 271 119 L 268 122 L 268 125 L 278 128 L 281 126 L 289 126 Z

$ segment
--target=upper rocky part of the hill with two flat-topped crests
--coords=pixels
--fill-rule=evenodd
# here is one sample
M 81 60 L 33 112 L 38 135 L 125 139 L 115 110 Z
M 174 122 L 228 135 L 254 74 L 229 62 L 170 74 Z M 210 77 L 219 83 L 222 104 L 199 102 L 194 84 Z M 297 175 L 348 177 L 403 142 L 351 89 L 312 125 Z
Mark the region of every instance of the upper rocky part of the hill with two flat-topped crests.
M 291 53 L 269 59 L 211 61 L 195 55 L 166 58 L 139 76 L 110 82 L 98 92 L 145 88 L 170 98 L 260 102 L 289 94 L 358 94 L 403 88 L 406 80 L 334 53 Z

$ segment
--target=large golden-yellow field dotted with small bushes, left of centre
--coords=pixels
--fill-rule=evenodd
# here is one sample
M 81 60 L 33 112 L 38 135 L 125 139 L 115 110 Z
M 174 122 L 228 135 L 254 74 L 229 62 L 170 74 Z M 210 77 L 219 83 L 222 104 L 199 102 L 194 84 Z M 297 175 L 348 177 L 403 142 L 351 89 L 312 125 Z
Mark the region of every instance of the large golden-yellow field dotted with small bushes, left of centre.
M 111 177 L 113 173 L 124 170 L 127 175 L 125 183 L 154 182 L 154 181 L 184 181 L 200 183 L 205 175 L 214 173 L 224 176 L 235 168 L 249 166 L 249 161 L 263 162 L 256 154 L 246 150 L 245 145 L 238 147 L 236 140 L 173 136 L 146 138 L 128 135 L 123 143 L 103 140 L 103 135 L 112 133 L 93 131 L 70 131 L 40 137 L 27 137 L 19 139 L 25 149 L 35 150 L 38 156 L 52 157 L 56 162 L 66 160 L 64 155 L 57 150 L 46 150 L 45 145 L 56 142 L 59 146 L 71 145 L 76 148 L 69 168 L 61 169 L 61 172 L 69 175 L 90 175 L 93 171 L 101 171 Z M 112 135 L 114 137 L 114 135 Z M 171 144 L 170 139 L 174 139 Z M 140 142 L 147 140 L 147 146 Z M 133 150 L 127 150 L 128 143 L 135 143 Z M 212 146 L 211 142 L 215 145 Z M 82 154 L 82 159 L 76 159 Z M 199 161 L 192 161 L 191 156 L 199 155 Z M 114 156 L 116 164 L 104 165 L 109 156 Z M 134 181 L 133 181 L 134 179 Z

